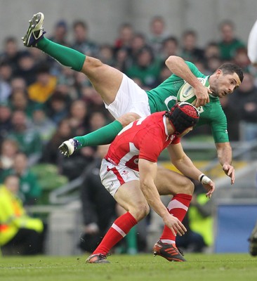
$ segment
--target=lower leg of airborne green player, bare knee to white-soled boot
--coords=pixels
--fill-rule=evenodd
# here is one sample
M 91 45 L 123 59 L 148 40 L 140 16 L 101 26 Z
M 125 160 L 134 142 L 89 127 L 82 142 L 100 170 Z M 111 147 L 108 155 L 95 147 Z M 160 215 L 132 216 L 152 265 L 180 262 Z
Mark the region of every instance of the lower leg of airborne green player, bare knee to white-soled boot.
M 140 118 L 140 116 L 136 113 L 126 113 L 117 118 L 114 122 L 92 133 L 88 133 L 84 136 L 75 136 L 74 138 L 70 138 L 70 140 L 64 141 L 60 145 L 59 150 L 63 155 L 68 157 L 72 155 L 75 150 L 83 148 L 84 146 L 107 145 L 112 143 L 122 128 L 138 118 Z

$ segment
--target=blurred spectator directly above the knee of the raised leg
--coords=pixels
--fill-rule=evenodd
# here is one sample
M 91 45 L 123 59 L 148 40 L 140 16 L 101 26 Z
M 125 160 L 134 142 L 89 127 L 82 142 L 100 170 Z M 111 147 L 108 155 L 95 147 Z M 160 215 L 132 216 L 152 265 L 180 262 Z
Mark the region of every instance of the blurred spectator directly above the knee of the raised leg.
M 86 55 L 97 55 L 98 46 L 88 38 L 88 25 L 82 20 L 73 23 L 74 44 L 72 48 Z

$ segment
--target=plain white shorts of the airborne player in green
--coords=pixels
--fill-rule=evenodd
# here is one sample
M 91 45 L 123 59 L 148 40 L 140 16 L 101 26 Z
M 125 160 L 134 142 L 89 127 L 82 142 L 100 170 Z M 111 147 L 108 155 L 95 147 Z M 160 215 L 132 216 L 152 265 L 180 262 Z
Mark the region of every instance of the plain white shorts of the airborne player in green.
M 147 93 L 125 74 L 114 102 L 110 105 L 105 103 L 105 108 L 115 119 L 128 112 L 135 112 L 140 117 L 151 114 Z

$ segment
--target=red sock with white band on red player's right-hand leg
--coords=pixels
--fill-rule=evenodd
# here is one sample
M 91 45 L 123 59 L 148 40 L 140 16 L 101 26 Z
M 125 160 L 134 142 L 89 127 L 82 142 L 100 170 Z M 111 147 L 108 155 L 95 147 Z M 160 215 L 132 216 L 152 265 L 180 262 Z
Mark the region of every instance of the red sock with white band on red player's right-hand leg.
M 169 202 L 169 205 L 167 207 L 169 214 L 172 214 L 173 216 L 176 216 L 176 218 L 178 218 L 180 221 L 183 221 L 191 200 L 192 195 L 176 194 L 175 196 L 173 196 L 171 202 Z M 164 226 L 164 230 L 162 236 L 160 237 L 160 240 L 162 240 L 162 242 L 164 243 L 176 244 L 176 236 L 173 235 L 171 229 L 167 226 Z

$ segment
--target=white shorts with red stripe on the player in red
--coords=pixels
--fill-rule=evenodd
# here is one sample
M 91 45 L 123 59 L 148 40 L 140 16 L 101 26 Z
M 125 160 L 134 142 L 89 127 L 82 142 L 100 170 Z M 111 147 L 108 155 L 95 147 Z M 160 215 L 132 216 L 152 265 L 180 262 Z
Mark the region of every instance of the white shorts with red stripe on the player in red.
M 118 188 L 129 181 L 139 181 L 139 172 L 126 166 L 116 166 L 103 159 L 100 167 L 100 178 L 112 196 Z

